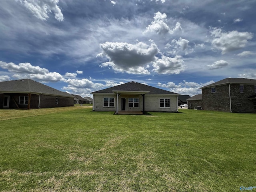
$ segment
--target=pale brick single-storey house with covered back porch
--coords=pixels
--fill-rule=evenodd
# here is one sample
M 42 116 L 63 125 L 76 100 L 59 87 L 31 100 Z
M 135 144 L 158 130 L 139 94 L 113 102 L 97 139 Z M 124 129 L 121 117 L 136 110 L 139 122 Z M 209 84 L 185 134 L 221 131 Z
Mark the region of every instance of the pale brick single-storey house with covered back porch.
M 178 94 L 137 82 L 92 92 L 94 111 L 178 112 Z

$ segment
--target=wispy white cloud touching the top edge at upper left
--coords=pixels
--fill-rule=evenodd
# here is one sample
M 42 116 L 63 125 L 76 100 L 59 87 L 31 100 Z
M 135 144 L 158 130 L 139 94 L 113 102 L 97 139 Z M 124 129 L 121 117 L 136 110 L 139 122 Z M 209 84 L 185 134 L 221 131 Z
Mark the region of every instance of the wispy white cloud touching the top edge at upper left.
M 58 6 L 59 0 L 19 0 L 36 18 L 47 20 L 48 14 L 54 12 L 54 17 L 58 21 L 63 21 L 64 17 Z

